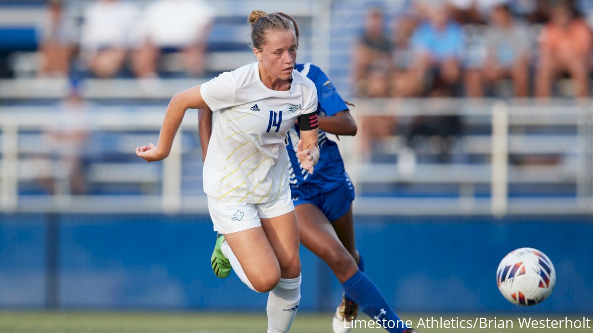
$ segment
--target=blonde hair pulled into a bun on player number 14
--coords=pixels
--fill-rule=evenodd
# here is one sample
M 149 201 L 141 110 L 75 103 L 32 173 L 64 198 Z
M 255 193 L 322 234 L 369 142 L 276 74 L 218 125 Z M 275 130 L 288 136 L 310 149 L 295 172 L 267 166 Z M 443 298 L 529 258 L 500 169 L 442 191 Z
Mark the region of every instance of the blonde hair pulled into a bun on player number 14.
M 295 31 L 292 22 L 277 12 L 266 14 L 266 12 L 256 9 L 251 11 L 247 18 L 251 25 L 251 43 L 250 47 L 262 50 L 262 46 L 267 44 L 266 33 L 268 31 Z

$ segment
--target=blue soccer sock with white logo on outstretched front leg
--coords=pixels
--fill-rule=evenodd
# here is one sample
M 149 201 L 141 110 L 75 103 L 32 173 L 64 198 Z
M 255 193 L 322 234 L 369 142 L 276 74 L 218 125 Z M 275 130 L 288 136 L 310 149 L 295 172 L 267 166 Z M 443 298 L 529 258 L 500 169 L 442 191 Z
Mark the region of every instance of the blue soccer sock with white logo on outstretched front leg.
M 387 303 L 377 286 L 365 273 L 357 271 L 356 274 L 342 283 L 342 287 L 366 315 L 382 324 L 388 332 L 403 333 L 409 328 L 396 315 L 396 312 Z

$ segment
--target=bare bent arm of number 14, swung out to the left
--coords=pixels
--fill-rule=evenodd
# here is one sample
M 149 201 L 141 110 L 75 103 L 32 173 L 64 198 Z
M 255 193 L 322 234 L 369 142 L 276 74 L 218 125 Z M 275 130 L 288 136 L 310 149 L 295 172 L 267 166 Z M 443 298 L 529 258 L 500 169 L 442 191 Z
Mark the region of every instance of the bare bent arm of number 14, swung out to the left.
M 169 156 L 173 139 L 181 125 L 181 120 L 188 108 L 208 107 L 200 94 L 200 86 L 192 87 L 173 95 L 165 119 L 162 121 L 161 133 L 157 145 L 149 143 L 148 146 L 136 148 L 136 155 L 144 158 L 146 162 L 160 161 Z

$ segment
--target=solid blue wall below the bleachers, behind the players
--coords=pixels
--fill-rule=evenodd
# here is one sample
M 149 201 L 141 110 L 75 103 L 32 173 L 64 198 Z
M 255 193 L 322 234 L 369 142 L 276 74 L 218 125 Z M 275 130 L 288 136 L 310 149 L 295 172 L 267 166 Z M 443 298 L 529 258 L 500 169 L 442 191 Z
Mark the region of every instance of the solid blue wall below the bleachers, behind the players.
M 234 275 L 209 264 L 206 216 L 0 214 L 0 308 L 262 310 Z M 556 289 L 527 312 L 593 312 L 591 217 L 356 217 L 365 271 L 398 310 L 517 310 L 495 271 L 515 248 L 544 251 Z M 342 290 L 302 249 L 303 310 L 332 310 Z

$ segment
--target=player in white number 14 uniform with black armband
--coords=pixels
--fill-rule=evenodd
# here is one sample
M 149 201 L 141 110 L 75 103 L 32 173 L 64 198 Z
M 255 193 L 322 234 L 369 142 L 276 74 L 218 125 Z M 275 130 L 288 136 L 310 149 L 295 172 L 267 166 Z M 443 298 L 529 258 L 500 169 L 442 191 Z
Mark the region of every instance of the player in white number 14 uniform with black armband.
M 284 141 L 298 122 L 298 159 L 313 173 L 319 158 L 317 91 L 294 71 L 292 24 L 263 11 L 251 12 L 248 22 L 257 62 L 175 94 L 158 145 L 138 147 L 136 155 L 148 162 L 167 157 L 187 108 L 217 111 L 203 169 L 214 229 L 225 235 L 222 250 L 237 254 L 244 283 L 269 292 L 268 332 L 288 332 L 301 297 L 301 262 Z

